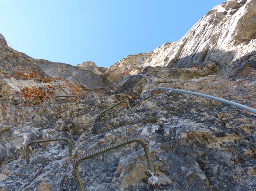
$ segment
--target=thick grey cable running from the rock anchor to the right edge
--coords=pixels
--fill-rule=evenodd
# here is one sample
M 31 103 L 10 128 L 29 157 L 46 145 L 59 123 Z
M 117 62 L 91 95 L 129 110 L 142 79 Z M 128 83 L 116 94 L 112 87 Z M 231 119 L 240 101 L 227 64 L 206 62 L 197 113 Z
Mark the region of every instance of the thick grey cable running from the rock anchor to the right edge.
M 196 93 L 196 92 L 193 92 L 193 91 L 179 90 L 179 89 L 173 89 L 173 88 L 168 88 L 168 87 L 156 87 L 156 88 L 150 90 L 150 92 L 148 92 L 146 95 L 144 95 L 145 98 L 152 91 L 155 91 L 155 90 L 171 90 L 171 91 L 178 91 L 178 92 L 186 93 L 186 94 L 192 94 L 192 95 L 195 95 L 195 96 L 206 97 L 206 98 L 209 98 L 209 99 L 212 99 L 212 100 L 216 100 L 216 101 L 222 102 L 224 104 L 233 105 L 233 106 L 235 106 L 237 108 L 240 108 L 240 109 L 243 109 L 243 110 L 246 110 L 246 111 L 249 111 L 249 112 L 252 112 L 252 113 L 256 114 L 256 109 L 247 107 L 247 106 L 242 105 L 242 104 L 238 104 L 238 103 L 233 102 L 233 101 L 225 100 L 225 99 L 214 97 L 214 96 L 209 96 L 209 95 L 206 95 L 206 94 L 200 94 L 200 93 Z M 142 100 L 144 100 L 144 96 L 142 96 Z

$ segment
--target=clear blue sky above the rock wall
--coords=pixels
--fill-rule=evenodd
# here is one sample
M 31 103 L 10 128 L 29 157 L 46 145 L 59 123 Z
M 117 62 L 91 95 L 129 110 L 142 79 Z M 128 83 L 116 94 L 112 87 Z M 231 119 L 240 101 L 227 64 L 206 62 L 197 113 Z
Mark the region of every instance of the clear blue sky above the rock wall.
M 108 67 L 180 39 L 224 0 L 0 0 L 0 33 L 33 58 Z

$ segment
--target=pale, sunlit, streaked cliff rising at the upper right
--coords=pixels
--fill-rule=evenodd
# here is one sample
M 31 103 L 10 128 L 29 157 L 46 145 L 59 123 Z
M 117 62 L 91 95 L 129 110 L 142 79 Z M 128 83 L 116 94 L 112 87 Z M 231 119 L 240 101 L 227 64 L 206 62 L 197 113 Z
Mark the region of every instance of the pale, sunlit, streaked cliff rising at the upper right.
M 255 30 L 256 1 L 226 1 L 210 10 L 179 41 L 156 48 L 144 67 L 184 68 L 213 61 L 220 72 L 236 76 L 237 69 L 243 67 L 238 60 L 245 56 L 245 60 L 253 59 L 247 66 L 251 72 L 256 61 Z

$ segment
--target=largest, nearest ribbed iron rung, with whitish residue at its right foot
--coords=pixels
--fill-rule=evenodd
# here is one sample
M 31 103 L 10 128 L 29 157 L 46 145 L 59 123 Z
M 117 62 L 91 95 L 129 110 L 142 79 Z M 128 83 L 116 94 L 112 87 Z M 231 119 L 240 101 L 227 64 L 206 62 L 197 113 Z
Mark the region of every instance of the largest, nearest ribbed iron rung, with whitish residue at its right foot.
M 117 143 L 109 145 L 109 146 L 105 146 L 104 148 L 101 148 L 101 149 L 89 152 L 89 153 L 83 155 L 81 158 L 76 159 L 74 161 L 74 164 L 73 164 L 73 174 L 74 174 L 75 179 L 76 179 L 76 181 L 78 183 L 79 190 L 80 191 L 85 191 L 84 183 L 82 182 L 82 179 L 81 179 L 81 176 L 80 176 L 79 170 L 78 170 L 79 164 L 82 161 L 84 161 L 85 159 L 88 159 L 88 158 L 92 158 L 92 157 L 94 157 L 96 155 L 99 155 L 101 153 L 105 153 L 105 152 L 107 152 L 109 150 L 116 149 L 116 148 L 118 148 L 120 146 L 127 145 L 127 144 L 132 143 L 132 142 L 138 142 L 138 143 L 140 143 L 143 146 L 143 149 L 144 149 L 144 152 L 145 152 L 146 158 L 147 158 L 147 163 L 148 163 L 148 172 L 151 175 L 154 175 L 155 174 L 155 169 L 154 169 L 154 166 L 153 166 L 152 161 L 151 161 L 148 145 L 142 139 L 140 139 L 140 138 L 130 138 L 130 139 L 125 139 L 123 141 L 117 142 Z

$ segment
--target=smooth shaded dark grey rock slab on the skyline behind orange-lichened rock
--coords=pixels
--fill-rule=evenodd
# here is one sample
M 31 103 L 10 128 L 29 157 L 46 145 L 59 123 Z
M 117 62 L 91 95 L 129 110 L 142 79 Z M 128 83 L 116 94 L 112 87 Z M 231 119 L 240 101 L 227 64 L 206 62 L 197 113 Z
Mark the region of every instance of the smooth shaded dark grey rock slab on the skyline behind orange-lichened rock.
M 81 69 L 81 67 L 72 66 L 70 64 L 54 63 L 48 60 L 31 58 L 24 53 L 21 54 L 52 78 L 66 79 L 68 75 L 73 75 L 80 79 L 81 85 L 85 87 L 105 87 L 110 85 L 108 80 L 93 71 Z M 73 77 L 69 77 L 68 80 L 78 83 L 78 80 Z

